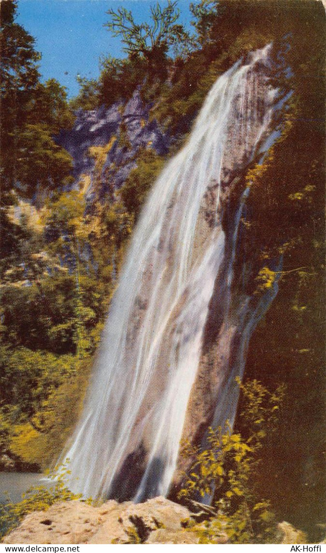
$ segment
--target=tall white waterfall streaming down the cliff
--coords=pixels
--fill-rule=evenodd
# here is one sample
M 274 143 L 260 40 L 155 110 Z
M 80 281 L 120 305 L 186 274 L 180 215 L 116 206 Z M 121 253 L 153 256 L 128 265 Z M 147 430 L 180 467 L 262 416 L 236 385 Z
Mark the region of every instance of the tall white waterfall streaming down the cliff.
M 232 312 L 233 265 L 249 187 L 239 195 L 228 239 L 223 198 L 236 171 L 263 155 L 273 130 L 278 91 L 269 82 L 270 66 L 268 45 L 218 78 L 188 143 L 168 161 L 143 208 L 84 413 L 61 459 L 69 459 L 68 487 L 84 497 L 139 502 L 169 493 L 217 282 L 225 332 L 232 325 L 235 331 L 212 422 L 234 420 L 234 378 L 242 377 L 250 336 L 276 295 L 277 280 L 254 308 L 243 296 Z

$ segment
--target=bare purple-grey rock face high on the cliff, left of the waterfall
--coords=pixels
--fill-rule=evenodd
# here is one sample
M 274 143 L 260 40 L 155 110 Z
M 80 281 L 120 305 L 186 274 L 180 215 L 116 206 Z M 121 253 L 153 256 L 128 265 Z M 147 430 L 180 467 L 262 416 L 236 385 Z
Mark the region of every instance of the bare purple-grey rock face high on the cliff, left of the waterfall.
M 168 152 L 169 139 L 164 135 L 156 120 L 149 121 L 149 109 L 140 96 L 140 90 L 124 106 L 116 102 L 109 108 L 101 106 L 92 111 L 79 109 L 71 131 L 61 131 L 56 141 L 73 158 L 73 176 L 92 174 L 95 160 L 89 155 L 90 147 L 112 142 L 101 168 L 103 192 L 110 180 L 114 189 L 119 189 L 130 171 L 136 167 L 135 157 L 140 149 L 152 148 L 157 154 Z M 92 186 L 91 186 L 92 188 Z M 92 190 L 89 191 L 92 195 Z

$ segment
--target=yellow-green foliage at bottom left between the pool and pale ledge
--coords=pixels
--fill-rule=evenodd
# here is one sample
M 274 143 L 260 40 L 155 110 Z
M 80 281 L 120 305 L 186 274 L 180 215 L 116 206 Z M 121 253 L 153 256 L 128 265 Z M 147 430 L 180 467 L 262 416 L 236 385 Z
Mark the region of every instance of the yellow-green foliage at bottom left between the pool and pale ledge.
M 7 503 L 0 503 L 0 537 L 16 528 L 28 513 L 46 511 L 55 503 L 81 498 L 81 495 L 72 493 L 66 487 L 65 474 L 68 472 L 66 467 L 62 467 L 58 476 L 52 475 L 52 479 L 56 478 L 52 486 L 31 487 L 23 494 L 23 499 L 19 503 L 11 502 L 8 495 Z

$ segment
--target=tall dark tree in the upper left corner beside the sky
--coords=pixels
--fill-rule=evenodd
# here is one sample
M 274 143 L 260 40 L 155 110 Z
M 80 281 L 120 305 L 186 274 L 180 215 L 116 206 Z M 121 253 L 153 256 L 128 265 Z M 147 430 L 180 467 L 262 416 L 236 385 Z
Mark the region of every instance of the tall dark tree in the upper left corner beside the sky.
M 0 9 L 0 189 L 8 204 L 12 189 L 31 197 L 40 185 L 67 184 L 72 160 L 53 137 L 72 116 L 63 87 L 55 79 L 40 83 L 40 54 L 33 36 L 14 21 L 17 3 L 4 0 Z

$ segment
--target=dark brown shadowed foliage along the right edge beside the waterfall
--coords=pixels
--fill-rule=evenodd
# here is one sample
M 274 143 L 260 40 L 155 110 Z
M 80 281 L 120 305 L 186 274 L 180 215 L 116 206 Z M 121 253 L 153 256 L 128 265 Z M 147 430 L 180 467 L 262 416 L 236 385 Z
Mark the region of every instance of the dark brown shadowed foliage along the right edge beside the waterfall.
M 293 100 L 272 158 L 265 159 L 265 170 L 256 173 L 250 187 L 249 225 L 242 227 L 235 272 L 240 274 L 243 259 L 256 259 L 247 275 L 251 294 L 257 284 L 268 283 L 254 280 L 260 270 L 275 270 L 282 255 L 279 292 L 250 341 L 246 368 L 249 378 L 260 374 L 266 387 L 277 380 L 287 384 L 279 435 L 270 437 L 262 450 L 265 470 L 257 474 L 256 486 L 271 499 L 281 520 L 308 531 L 317 542 L 322 533 L 316 521 L 324 517 L 325 113 L 320 98 L 325 96 L 325 45 L 320 37 L 325 17 L 310 8 L 300 4 L 291 20 L 280 11 L 280 30 L 285 25 L 292 29 L 286 60 L 293 75 L 286 86 L 291 86 Z M 271 18 L 270 28 L 274 25 Z M 303 26 L 309 32 L 302 33 Z M 260 372 L 261 366 L 265 371 Z

